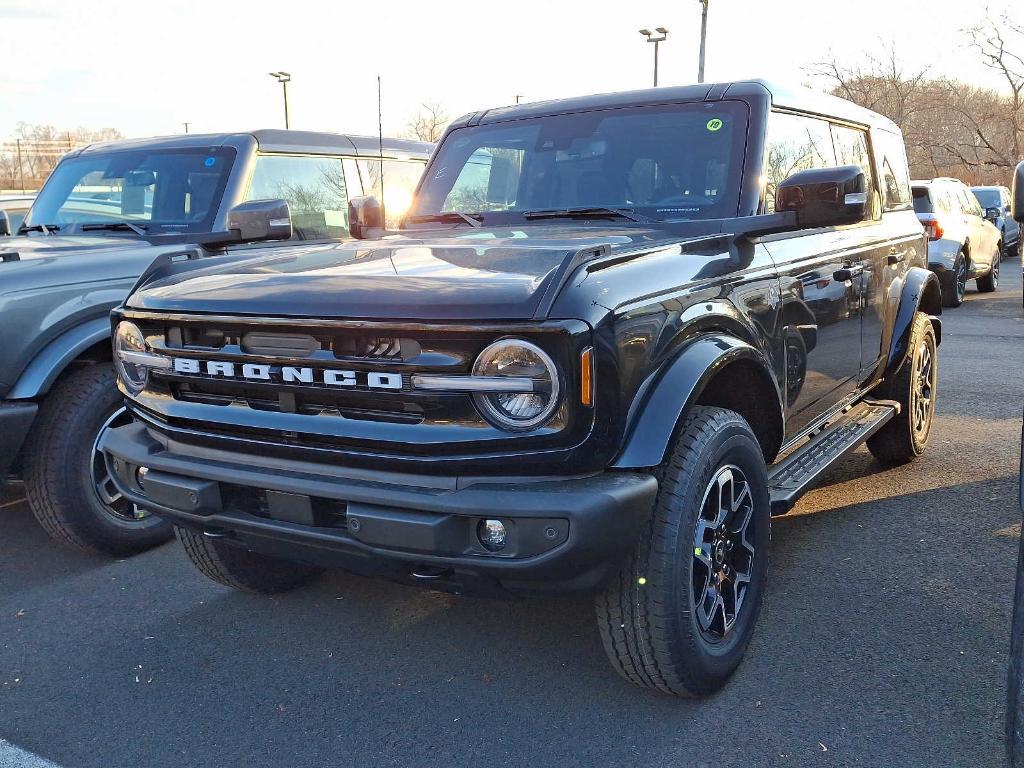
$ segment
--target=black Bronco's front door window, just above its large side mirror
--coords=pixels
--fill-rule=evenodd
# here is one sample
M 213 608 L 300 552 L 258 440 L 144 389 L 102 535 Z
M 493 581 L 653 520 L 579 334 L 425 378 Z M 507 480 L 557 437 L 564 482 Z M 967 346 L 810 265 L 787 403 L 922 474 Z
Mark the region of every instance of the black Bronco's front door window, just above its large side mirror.
M 765 137 L 765 213 L 775 212 L 775 189 L 786 178 L 799 171 L 836 165 L 827 122 L 772 113 Z

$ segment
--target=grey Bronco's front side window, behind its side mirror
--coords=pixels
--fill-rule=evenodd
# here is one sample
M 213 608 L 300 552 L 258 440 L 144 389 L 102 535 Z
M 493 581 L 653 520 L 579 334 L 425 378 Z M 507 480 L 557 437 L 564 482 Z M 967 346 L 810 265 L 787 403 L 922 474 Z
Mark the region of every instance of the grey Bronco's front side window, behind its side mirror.
M 348 191 L 341 158 L 259 155 L 246 200 L 281 198 L 298 240 L 348 237 Z

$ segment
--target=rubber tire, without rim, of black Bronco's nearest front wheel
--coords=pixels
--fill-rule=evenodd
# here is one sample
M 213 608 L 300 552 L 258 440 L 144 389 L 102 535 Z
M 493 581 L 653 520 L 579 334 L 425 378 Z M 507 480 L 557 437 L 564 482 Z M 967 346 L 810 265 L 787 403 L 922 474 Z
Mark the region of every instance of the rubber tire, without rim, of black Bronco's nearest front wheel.
M 716 645 L 697 623 L 693 543 L 708 483 L 723 467 L 741 469 L 751 490 L 751 586 L 730 634 Z M 770 537 L 767 472 L 750 425 L 738 414 L 694 407 L 658 471 L 646 529 L 595 598 L 611 666 L 636 685 L 675 695 L 721 688 L 742 659 L 764 597 Z

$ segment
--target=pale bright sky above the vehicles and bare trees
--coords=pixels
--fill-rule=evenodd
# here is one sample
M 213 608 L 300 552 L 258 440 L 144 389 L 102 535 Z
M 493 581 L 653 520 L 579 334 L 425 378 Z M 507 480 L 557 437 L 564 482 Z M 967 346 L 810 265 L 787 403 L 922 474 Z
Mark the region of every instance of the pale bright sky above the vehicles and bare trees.
M 1013 5 L 1013 3 L 1010 3 Z M 995 7 L 1006 7 L 995 6 Z M 1024 13 L 1021 13 L 1024 16 Z M 999 87 L 962 30 L 964 0 L 710 0 L 706 79 L 813 83 L 835 56 L 894 46 L 907 71 Z M 699 0 L 0 0 L 0 140 L 20 122 L 126 136 L 283 127 L 396 135 L 425 101 L 451 118 L 513 103 L 696 81 Z

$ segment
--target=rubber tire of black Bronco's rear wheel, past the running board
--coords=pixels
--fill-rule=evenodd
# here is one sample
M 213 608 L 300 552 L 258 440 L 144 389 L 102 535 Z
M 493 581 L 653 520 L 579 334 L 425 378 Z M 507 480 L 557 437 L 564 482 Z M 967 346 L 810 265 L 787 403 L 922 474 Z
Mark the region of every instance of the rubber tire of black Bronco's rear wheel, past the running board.
M 915 414 L 915 387 L 922 376 L 924 360 L 921 357 L 922 345 L 931 356 L 929 373 L 929 403 L 927 407 L 924 428 L 918 426 L 920 415 Z M 936 396 L 938 395 L 938 354 L 935 342 L 935 329 L 931 321 L 922 312 L 913 317 L 913 328 L 910 331 L 910 341 L 907 346 L 907 359 L 899 371 L 884 381 L 874 390 L 874 394 L 887 400 L 896 400 L 900 412 L 867 439 L 867 450 L 882 464 L 895 467 L 912 462 L 928 446 L 928 435 L 931 432 L 932 420 L 935 416 Z

